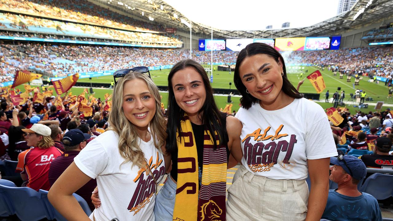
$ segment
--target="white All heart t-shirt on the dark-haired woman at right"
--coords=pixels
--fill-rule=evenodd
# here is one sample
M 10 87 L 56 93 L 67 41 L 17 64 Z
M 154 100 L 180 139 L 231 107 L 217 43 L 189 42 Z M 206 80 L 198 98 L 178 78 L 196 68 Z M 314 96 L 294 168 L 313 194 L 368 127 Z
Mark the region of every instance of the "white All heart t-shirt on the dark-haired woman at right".
M 307 159 L 338 155 L 325 111 L 308 99 L 294 99 L 279 110 L 265 110 L 256 102 L 248 110 L 240 108 L 236 118 L 243 125 L 242 164 L 255 175 L 306 179 Z

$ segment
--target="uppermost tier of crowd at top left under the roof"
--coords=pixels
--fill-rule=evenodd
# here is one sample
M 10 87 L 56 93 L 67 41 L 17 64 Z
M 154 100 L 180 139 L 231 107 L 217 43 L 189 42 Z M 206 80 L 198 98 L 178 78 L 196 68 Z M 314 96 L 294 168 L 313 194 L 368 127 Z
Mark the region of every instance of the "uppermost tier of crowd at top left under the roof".
M 12 8 L 42 17 L 68 18 L 78 22 L 91 22 L 113 28 L 126 28 L 136 31 L 165 31 L 159 24 L 126 17 L 109 9 L 97 7 L 97 5 L 85 0 L 3 0 L 0 2 L 0 8 Z

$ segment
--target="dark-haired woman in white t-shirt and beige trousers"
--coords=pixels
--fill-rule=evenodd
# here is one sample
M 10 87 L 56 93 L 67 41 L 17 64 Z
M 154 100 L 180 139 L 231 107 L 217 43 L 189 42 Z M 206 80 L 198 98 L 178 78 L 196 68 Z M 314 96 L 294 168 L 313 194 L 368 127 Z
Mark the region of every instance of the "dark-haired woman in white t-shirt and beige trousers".
M 267 44 L 241 50 L 234 82 L 244 156 L 228 189 L 226 220 L 319 220 L 329 158 L 337 155 L 324 110 L 292 86 L 283 57 Z

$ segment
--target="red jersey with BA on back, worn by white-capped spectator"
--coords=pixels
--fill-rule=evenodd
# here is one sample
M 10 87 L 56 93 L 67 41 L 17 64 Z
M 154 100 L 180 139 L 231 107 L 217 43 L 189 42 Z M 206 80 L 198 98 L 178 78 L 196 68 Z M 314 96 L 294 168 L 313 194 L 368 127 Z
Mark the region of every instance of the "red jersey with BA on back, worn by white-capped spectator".
M 34 147 L 23 151 L 18 155 L 18 165 L 16 172 L 26 173 L 28 176 L 27 186 L 38 191 L 49 190 L 48 181 L 49 167 L 53 159 L 62 155 L 56 147 L 42 149 Z

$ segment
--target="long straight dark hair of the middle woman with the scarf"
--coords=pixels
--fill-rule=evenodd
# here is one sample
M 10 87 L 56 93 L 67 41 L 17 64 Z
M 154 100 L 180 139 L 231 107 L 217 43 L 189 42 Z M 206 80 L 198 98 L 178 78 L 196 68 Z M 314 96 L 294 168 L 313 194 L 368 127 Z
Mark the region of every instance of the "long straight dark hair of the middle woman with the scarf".
M 205 85 L 206 100 L 200 110 L 203 111 L 201 121 L 203 125 L 205 125 L 205 128 L 209 130 L 210 134 L 215 134 L 215 131 L 217 131 L 218 137 L 212 136 L 214 148 L 217 148 L 217 140 L 220 141 L 220 145 L 226 142 L 226 125 L 221 125 L 222 120 L 220 110 L 217 108 L 217 105 L 214 101 L 213 88 L 211 88 L 211 85 L 209 83 L 208 74 L 206 74 L 205 69 L 198 62 L 192 59 L 185 59 L 174 64 L 168 75 L 168 136 L 166 142 L 166 149 L 168 153 L 173 153 L 174 151 L 177 151 L 176 131 L 182 131 L 180 127 L 180 119 L 184 115 L 184 110 L 182 110 L 179 105 L 177 105 L 176 99 L 174 97 L 172 77 L 176 72 L 178 72 L 179 70 L 183 70 L 187 67 L 194 68 L 196 72 L 198 72 L 202 77 L 203 84 Z

